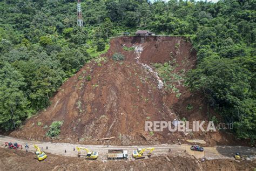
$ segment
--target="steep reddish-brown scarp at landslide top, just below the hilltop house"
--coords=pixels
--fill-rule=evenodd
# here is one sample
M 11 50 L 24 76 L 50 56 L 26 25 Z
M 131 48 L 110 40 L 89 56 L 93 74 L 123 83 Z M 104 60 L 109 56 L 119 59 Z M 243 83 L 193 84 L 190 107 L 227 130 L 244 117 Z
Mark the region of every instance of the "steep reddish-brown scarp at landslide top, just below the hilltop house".
M 150 65 L 177 60 L 178 69 L 191 69 L 196 65 L 196 51 L 184 37 L 134 36 L 117 37 L 110 40 L 110 49 L 103 56 L 111 57 L 116 52 L 125 55 L 125 60 Z M 139 54 L 125 47 L 140 47 Z

